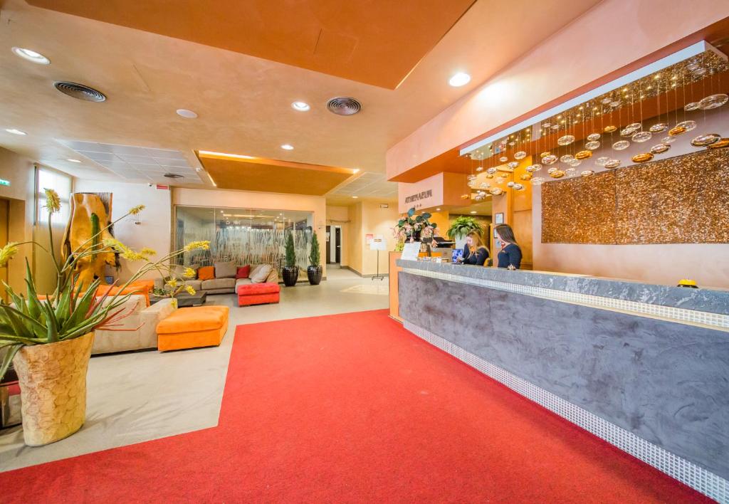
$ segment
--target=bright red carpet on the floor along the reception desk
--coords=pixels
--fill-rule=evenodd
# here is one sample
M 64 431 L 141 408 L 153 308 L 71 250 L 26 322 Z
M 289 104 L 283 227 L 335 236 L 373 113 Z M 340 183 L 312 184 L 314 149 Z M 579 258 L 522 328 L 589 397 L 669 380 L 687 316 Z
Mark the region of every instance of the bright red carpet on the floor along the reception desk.
M 0 473 L 0 500 L 708 502 L 385 311 L 239 326 L 219 427 Z

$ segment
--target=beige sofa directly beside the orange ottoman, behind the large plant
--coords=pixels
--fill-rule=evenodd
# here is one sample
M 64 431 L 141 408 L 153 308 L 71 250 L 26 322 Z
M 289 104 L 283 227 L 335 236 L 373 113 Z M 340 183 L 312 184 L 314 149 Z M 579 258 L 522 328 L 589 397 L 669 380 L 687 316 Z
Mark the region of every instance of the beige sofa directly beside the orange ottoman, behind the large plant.
M 169 317 L 176 307 L 171 299 L 147 306 L 143 295 L 133 295 L 121 309 L 130 314 L 117 322 L 114 330 L 95 331 L 91 354 L 157 348 L 157 324 Z

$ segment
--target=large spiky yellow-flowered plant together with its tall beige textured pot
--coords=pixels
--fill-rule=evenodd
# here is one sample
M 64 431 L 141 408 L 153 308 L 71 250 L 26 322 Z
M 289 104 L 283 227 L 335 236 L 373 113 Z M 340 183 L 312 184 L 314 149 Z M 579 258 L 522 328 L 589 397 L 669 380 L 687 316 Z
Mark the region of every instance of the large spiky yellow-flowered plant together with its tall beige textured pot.
M 61 203 L 54 190 L 46 189 L 45 193 L 52 244 L 51 218 L 60 211 Z M 144 206 L 136 206 L 121 219 L 139 214 L 142 209 Z M 23 438 L 29 446 L 58 441 L 81 428 L 86 414 L 86 371 L 94 330 L 114 330 L 116 322 L 128 315 L 122 305 L 133 292 L 122 293 L 124 289 L 145 273 L 168 268 L 166 263 L 183 251 L 209 245 L 208 241 L 193 242 L 153 263 L 149 256 L 156 252 L 152 249 L 135 251 L 116 239 L 99 239 L 121 219 L 95 228 L 95 234 L 71 250 L 65 260 L 58 260 L 52 247 L 47 249 L 36 241 L 10 242 L 0 249 L 0 267 L 7 265 L 21 244 L 47 252 L 57 278 L 52 294 L 39 295 L 26 261 L 26 294 L 17 293 L 6 284 L 12 303 L 0 300 L 0 378 L 12 363 L 20 384 Z M 114 294 L 106 289 L 97 296 L 101 279 L 84 284 L 78 266 L 95 255 L 109 252 L 127 260 L 143 261 L 144 265 Z

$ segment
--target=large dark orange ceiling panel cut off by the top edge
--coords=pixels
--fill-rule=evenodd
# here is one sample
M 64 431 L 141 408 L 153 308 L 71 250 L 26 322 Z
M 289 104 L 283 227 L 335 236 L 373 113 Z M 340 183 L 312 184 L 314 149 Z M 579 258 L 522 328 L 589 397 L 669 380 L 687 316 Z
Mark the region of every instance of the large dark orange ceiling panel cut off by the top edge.
M 28 4 L 397 88 L 475 0 L 28 0 Z

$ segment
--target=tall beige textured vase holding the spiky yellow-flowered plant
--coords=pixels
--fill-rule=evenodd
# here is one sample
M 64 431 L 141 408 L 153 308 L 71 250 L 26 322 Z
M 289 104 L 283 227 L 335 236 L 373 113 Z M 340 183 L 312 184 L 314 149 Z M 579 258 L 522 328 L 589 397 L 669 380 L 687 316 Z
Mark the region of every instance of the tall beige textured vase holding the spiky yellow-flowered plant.
M 75 433 L 86 417 L 86 371 L 93 333 L 46 345 L 23 346 L 12 364 L 20 383 L 23 438 L 28 446 Z

